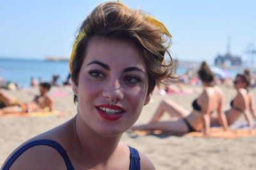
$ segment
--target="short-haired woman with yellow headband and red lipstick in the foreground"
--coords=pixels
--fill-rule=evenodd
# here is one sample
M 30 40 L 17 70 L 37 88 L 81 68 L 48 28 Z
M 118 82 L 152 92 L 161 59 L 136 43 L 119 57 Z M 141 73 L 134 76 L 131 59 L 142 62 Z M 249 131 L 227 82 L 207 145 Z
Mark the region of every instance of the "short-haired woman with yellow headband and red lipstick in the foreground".
M 76 117 L 29 139 L 4 168 L 155 169 L 120 138 L 155 85 L 172 78 L 172 57 L 161 64 L 170 38 L 163 24 L 139 10 L 114 2 L 97 6 L 81 25 L 70 57 Z

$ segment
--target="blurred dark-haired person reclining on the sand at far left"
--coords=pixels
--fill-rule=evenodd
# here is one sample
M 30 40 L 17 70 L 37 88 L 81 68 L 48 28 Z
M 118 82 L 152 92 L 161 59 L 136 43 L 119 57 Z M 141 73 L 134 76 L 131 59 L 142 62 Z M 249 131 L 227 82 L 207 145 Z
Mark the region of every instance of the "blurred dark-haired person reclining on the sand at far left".
M 0 115 L 11 113 L 28 113 L 37 111 L 52 111 L 53 101 L 48 95 L 51 89 L 50 83 L 40 83 L 40 95 L 35 96 L 35 99 L 29 103 L 18 101 L 17 99 L 8 96 L 6 92 L 0 90 Z

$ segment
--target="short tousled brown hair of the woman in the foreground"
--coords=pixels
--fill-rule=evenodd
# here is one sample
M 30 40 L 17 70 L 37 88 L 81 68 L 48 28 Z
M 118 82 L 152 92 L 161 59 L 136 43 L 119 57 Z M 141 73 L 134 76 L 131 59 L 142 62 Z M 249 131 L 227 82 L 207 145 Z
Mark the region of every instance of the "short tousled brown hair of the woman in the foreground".
M 78 85 L 78 78 L 86 48 L 92 38 L 122 39 L 132 41 L 145 60 L 148 72 L 148 93 L 164 79 L 173 78 L 174 62 L 168 52 L 172 45 L 170 36 L 166 36 L 154 24 L 148 22 L 140 10 L 133 10 L 122 3 L 107 2 L 97 6 L 84 20 L 79 32 L 86 36 L 79 41 L 76 55 L 72 61 L 72 81 Z M 164 65 L 164 54 L 170 60 Z M 76 96 L 74 101 L 77 101 Z

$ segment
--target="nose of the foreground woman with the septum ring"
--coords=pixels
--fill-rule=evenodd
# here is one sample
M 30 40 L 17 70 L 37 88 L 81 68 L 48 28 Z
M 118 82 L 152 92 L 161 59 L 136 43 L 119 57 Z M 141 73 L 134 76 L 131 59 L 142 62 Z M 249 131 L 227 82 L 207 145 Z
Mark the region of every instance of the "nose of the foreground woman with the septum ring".
M 124 90 L 122 89 L 122 85 L 119 80 L 111 80 L 108 84 L 104 87 L 102 92 L 102 96 L 107 101 L 121 101 L 124 98 Z

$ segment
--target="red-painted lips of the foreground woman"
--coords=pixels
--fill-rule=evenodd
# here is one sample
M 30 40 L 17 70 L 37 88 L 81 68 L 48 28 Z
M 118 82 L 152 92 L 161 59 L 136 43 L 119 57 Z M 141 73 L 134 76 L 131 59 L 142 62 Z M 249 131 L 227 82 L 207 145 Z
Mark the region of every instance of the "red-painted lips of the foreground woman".
M 100 110 L 100 108 L 108 108 L 111 110 L 120 110 L 120 113 L 111 113 L 109 114 L 106 110 Z M 116 105 L 109 105 L 109 104 L 102 104 L 100 106 L 96 106 L 97 112 L 99 113 L 100 117 L 104 118 L 105 120 L 115 121 L 119 118 L 123 117 L 124 115 L 124 108 Z

